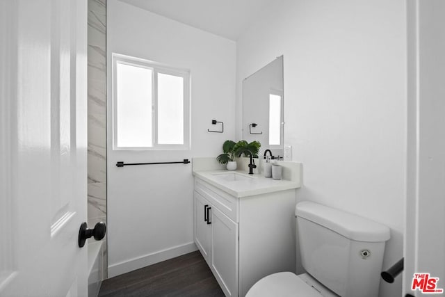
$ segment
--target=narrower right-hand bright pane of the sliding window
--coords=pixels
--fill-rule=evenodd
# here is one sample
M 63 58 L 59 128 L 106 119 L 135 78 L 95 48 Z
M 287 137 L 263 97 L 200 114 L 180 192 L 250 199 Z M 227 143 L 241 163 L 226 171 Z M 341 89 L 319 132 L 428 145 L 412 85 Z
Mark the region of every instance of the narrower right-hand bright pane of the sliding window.
M 184 78 L 158 74 L 158 143 L 184 144 Z

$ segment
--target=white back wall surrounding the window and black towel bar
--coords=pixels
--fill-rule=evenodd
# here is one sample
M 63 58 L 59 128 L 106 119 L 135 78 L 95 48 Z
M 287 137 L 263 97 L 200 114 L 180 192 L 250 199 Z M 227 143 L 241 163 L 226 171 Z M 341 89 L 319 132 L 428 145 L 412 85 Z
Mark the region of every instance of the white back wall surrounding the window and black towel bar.
M 129 6 L 107 1 L 107 63 L 125 54 L 191 70 L 191 150 L 117 152 L 111 145 L 111 67 L 108 67 L 109 275 L 194 249 L 191 165 L 129 166 L 117 161 L 180 161 L 217 156 L 235 136 L 236 44 Z M 225 133 L 211 120 L 224 122 Z M 219 127 L 218 127 L 219 128 Z

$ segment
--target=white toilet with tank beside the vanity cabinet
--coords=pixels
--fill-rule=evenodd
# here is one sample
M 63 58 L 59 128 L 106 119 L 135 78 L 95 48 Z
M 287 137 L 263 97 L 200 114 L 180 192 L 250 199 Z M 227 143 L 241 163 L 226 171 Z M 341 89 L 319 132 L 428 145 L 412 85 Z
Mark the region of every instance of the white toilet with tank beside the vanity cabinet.
M 306 273 L 268 275 L 245 297 L 377 297 L 389 228 L 314 202 L 296 206 Z

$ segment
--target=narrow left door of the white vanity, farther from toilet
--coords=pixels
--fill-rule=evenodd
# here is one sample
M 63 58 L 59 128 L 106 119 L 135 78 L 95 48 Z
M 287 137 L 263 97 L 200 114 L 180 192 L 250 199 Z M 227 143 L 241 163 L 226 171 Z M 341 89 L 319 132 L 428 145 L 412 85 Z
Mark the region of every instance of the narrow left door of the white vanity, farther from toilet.
M 211 247 L 211 224 L 207 223 L 207 213 L 210 213 L 210 210 L 207 210 L 209 207 L 211 207 L 210 203 L 195 191 L 195 243 L 208 264 Z

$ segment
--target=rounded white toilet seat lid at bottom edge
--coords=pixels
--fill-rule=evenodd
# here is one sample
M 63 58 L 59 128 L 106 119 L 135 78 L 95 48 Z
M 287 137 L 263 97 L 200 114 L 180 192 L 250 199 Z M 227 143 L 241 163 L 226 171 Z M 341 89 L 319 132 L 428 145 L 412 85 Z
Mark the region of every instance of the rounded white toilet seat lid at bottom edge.
M 245 295 L 245 297 L 272 296 L 323 297 L 316 289 L 291 272 L 279 272 L 261 278 Z

